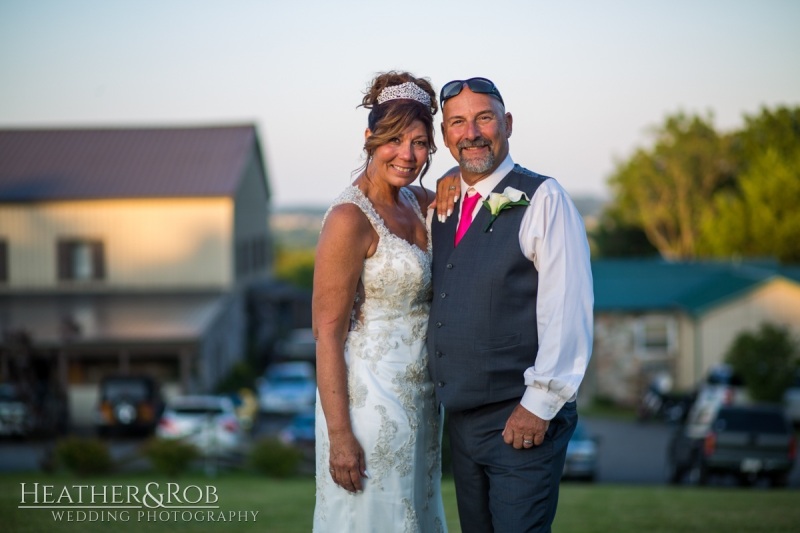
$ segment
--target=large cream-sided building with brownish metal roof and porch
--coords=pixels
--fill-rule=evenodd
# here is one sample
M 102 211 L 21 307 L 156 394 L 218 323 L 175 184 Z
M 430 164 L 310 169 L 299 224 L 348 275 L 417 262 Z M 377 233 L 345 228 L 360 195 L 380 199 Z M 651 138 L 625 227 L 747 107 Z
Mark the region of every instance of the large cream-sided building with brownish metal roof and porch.
M 252 125 L 0 130 L 0 329 L 53 362 L 79 424 L 108 373 L 208 391 L 272 271 L 269 203 Z

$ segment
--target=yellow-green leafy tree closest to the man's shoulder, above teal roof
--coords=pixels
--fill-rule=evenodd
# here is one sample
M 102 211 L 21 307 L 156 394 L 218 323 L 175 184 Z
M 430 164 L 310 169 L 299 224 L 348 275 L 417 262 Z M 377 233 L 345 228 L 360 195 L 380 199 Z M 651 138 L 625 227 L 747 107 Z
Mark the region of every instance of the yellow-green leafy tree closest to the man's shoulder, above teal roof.
M 653 148 L 637 150 L 609 178 L 612 208 L 642 228 L 662 256 L 691 259 L 712 198 L 733 182 L 731 139 L 718 135 L 710 118 L 683 113 L 668 116 L 654 134 Z

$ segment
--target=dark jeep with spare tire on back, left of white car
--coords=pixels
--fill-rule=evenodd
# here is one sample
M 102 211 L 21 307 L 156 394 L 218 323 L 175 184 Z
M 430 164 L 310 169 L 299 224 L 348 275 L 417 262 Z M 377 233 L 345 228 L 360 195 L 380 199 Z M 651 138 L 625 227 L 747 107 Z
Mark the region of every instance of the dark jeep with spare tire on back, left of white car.
M 108 434 L 150 434 L 164 411 L 161 388 L 149 376 L 107 376 L 100 382 L 97 430 Z

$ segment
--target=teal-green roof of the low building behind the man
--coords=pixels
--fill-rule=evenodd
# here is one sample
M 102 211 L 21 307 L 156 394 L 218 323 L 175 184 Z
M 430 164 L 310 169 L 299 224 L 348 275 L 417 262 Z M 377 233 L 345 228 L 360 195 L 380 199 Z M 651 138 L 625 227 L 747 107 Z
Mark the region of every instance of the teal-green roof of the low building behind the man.
M 800 283 L 800 269 L 775 261 L 600 259 L 592 261 L 595 310 L 681 310 L 700 315 L 782 277 Z

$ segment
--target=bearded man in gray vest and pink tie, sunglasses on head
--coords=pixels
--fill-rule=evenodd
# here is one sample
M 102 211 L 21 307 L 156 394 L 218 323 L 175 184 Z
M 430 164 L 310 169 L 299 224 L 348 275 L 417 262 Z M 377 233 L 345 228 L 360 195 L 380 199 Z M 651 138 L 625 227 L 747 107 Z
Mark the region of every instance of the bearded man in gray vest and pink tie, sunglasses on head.
M 592 349 L 586 232 L 554 179 L 514 164 L 494 83 L 451 81 L 440 102 L 461 196 L 431 227 L 427 342 L 461 529 L 550 531 Z

